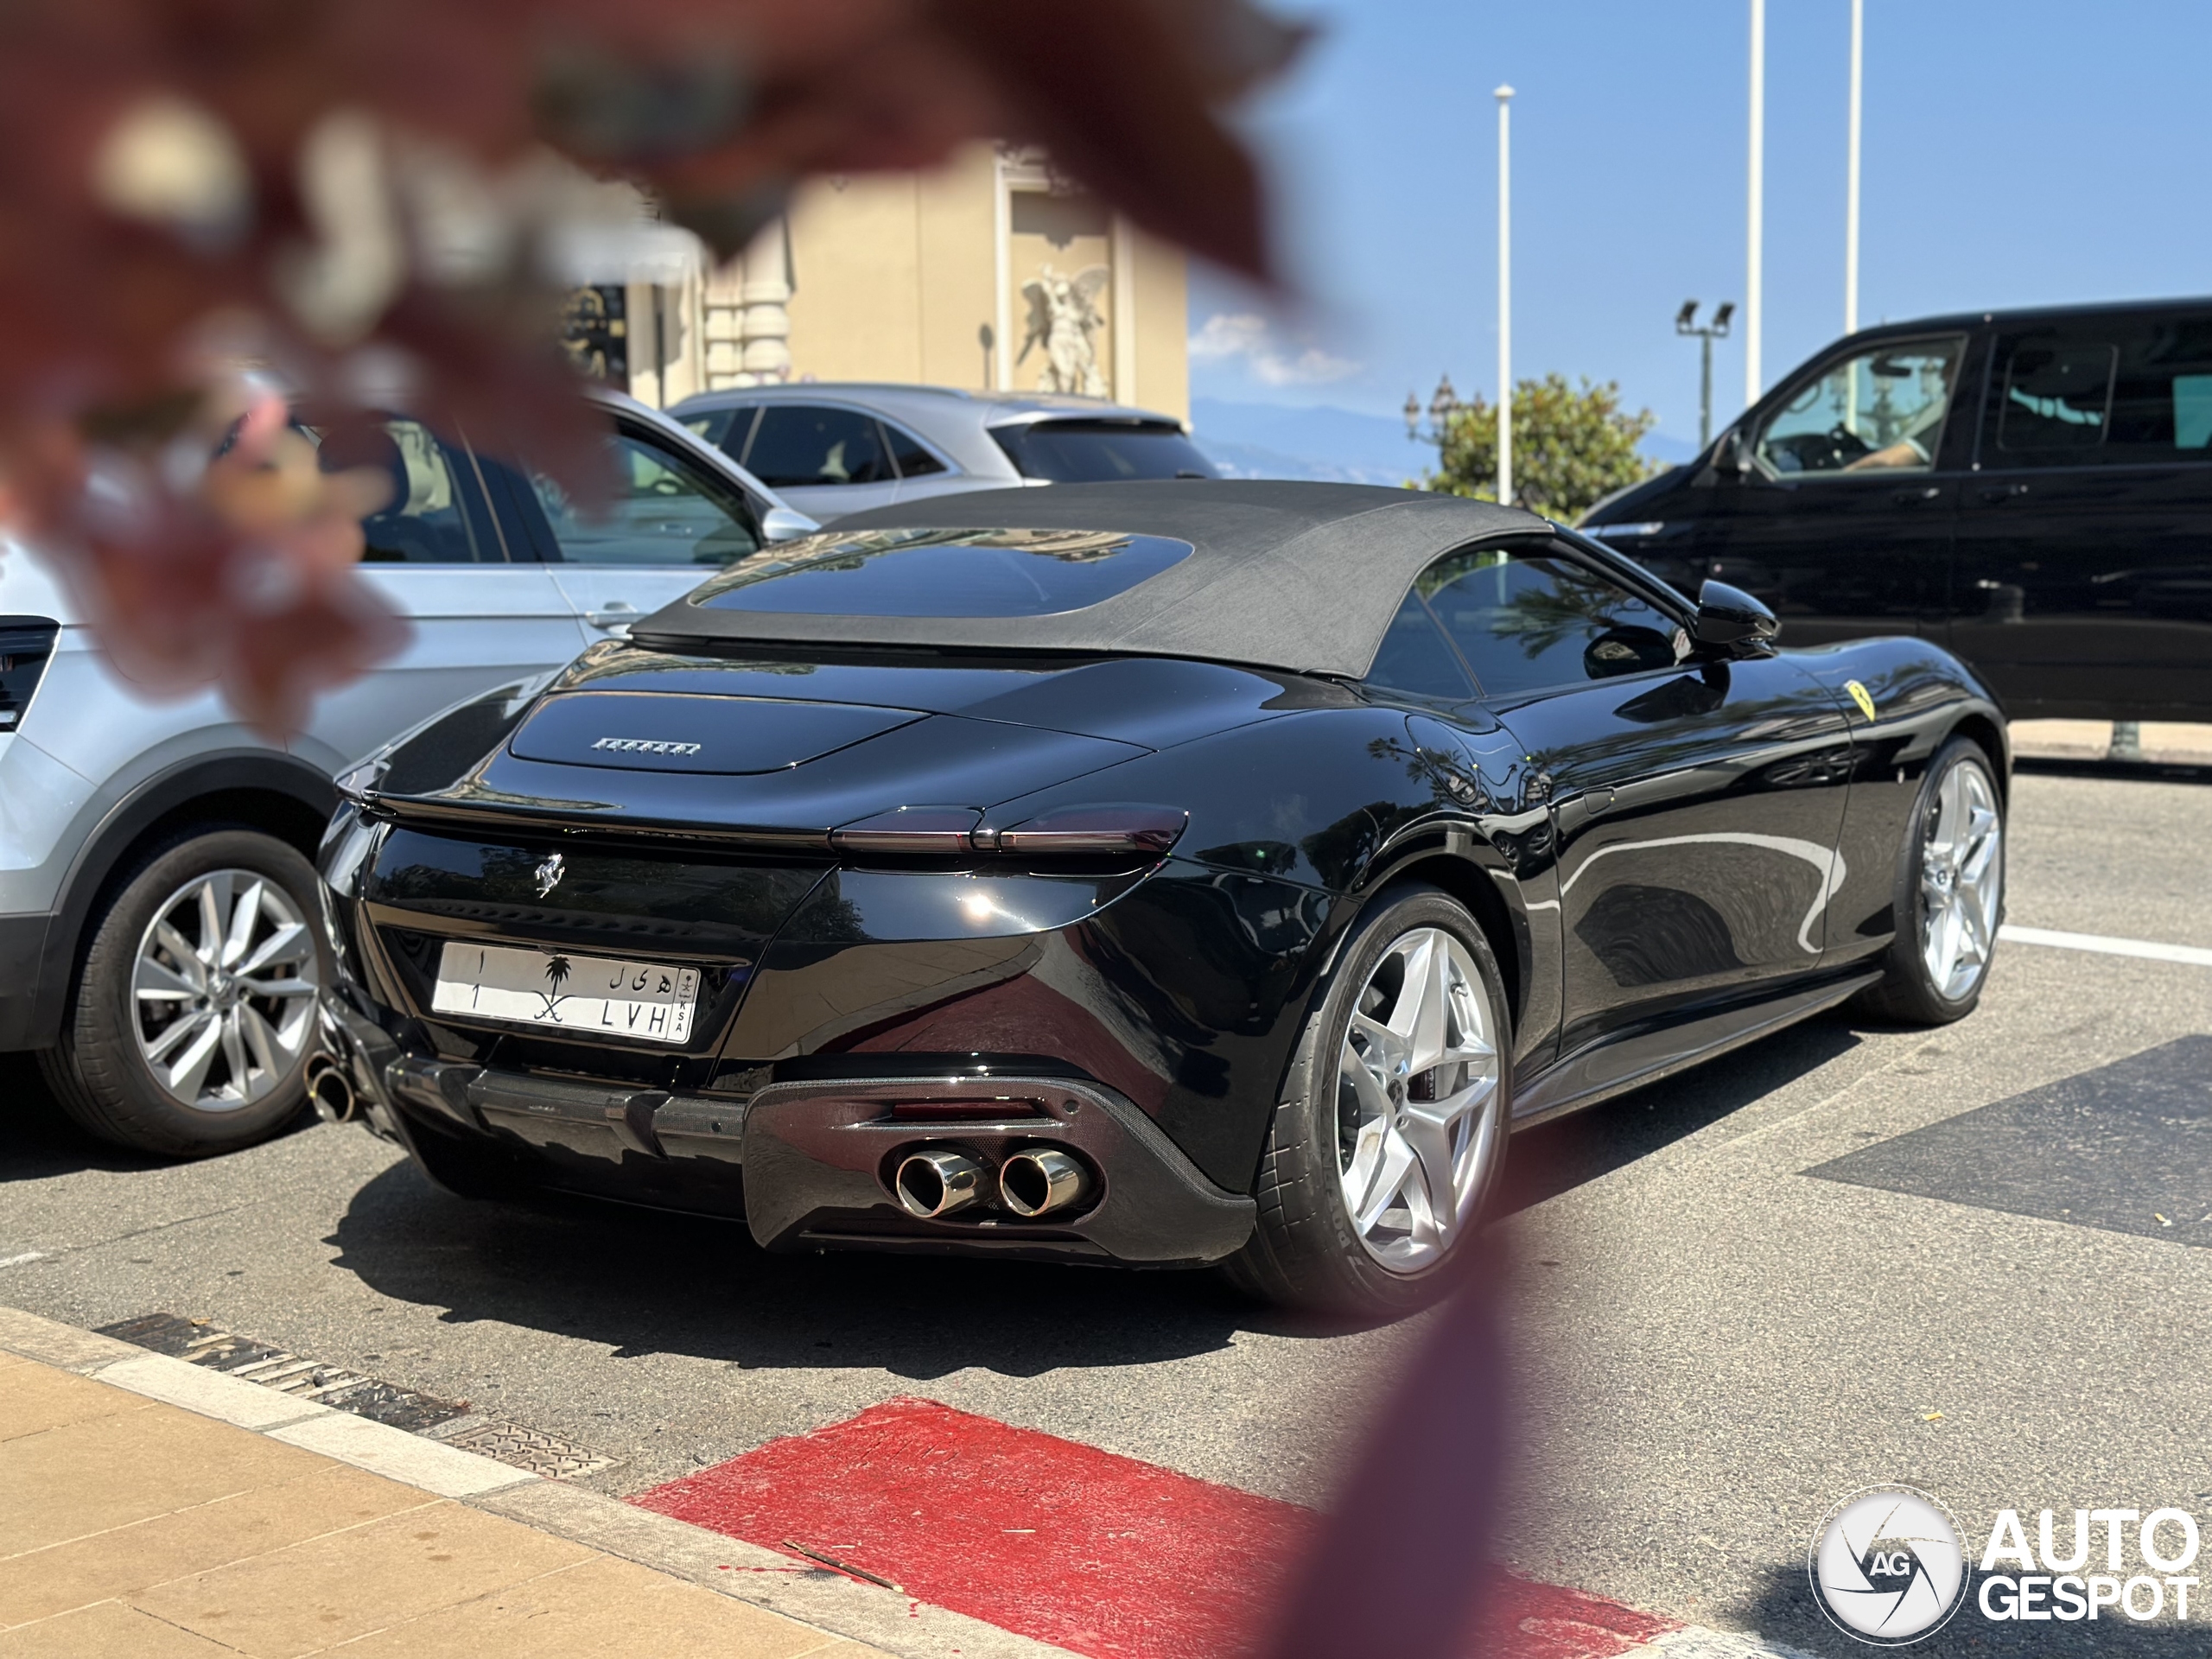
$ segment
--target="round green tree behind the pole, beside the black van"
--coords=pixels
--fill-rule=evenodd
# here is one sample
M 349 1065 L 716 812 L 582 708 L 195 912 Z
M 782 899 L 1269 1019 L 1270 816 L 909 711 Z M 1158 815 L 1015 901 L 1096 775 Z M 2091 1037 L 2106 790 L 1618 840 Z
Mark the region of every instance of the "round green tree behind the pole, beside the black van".
M 1582 389 L 1564 374 L 1513 387 L 1513 500 L 1533 513 L 1573 522 L 1601 495 L 1652 476 L 1637 445 L 1652 429 L 1650 409 L 1621 409 L 1617 380 Z M 1438 465 L 1425 489 L 1498 500 L 1498 409 L 1478 394 L 1444 420 Z

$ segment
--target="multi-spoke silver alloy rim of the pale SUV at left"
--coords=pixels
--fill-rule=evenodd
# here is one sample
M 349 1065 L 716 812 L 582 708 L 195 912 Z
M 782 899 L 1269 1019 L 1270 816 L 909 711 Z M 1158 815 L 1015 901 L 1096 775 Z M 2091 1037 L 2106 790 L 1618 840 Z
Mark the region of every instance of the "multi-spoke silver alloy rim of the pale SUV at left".
M 139 938 L 139 1057 L 184 1106 L 254 1106 L 305 1057 L 319 980 L 314 936 L 283 887 L 254 869 L 195 876 Z

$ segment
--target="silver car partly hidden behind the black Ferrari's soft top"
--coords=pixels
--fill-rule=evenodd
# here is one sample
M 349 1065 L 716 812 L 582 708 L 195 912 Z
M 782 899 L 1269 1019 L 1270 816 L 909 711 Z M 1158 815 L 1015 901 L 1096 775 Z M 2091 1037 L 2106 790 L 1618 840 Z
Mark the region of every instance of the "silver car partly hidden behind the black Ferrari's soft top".
M 1175 416 L 1053 392 L 803 383 L 668 414 L 823 522 L 964 489 L 1214 476 Z

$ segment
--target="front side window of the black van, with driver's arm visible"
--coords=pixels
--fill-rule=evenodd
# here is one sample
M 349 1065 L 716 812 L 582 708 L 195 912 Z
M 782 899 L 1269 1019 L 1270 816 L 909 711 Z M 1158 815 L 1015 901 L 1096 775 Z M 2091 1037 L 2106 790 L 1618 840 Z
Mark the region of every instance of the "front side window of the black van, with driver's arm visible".
M 1781 478 L 1929 471 L 1962 354 L 1958 338 L 1916 341 L 1823 369 L 1767 418 L 1759 460 Z

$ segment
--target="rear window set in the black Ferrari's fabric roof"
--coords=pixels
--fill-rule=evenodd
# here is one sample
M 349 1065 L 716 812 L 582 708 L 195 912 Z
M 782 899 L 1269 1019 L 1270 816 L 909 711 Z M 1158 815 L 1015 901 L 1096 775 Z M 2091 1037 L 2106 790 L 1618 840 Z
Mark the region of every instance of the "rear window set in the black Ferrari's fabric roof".
M 692 595 L 710 611 L 816 617 L 1048 617 L 1128 593 L 1190 542 L 1117 531 L 860 531 L 732 564 Z

